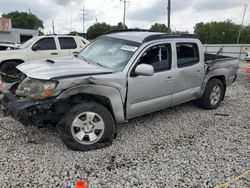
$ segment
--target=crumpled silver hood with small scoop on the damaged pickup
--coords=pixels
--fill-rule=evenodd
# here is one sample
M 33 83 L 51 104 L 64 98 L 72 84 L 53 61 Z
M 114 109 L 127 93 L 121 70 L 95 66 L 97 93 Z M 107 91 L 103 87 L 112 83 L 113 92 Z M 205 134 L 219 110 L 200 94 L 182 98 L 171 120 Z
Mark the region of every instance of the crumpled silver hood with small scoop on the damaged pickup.
M 64 57 L 49 61 L 31 61 L 18 65 L 17 69 L 28 77 L 42 80 L 114 72 L 111 69 L 103 68 L 75 57 Z

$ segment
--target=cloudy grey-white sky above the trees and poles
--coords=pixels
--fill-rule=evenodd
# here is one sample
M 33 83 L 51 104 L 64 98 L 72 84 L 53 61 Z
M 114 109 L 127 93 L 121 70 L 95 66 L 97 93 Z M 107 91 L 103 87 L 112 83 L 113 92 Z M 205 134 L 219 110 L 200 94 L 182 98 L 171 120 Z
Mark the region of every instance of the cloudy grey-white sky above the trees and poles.
M 83 31 L 81 13 L 85 13 L 85 32 L 96 22 L 116 25 L 123 20 L 120 0 L 0 0 L 0 14 L 24 11 L 37 15 L 44 22 L 44 32 L 67 34 Z M 198 22 L 232 20 L 241 24 L 244 4 L 247 11 L 244 25 L 250 25 L 250 0 L 171 0 L 171 29 L 193 33 Z M 167 25 L 167 0 L 129 0 L 126 6 L 126 25 L 149 29 L 154 23 Z

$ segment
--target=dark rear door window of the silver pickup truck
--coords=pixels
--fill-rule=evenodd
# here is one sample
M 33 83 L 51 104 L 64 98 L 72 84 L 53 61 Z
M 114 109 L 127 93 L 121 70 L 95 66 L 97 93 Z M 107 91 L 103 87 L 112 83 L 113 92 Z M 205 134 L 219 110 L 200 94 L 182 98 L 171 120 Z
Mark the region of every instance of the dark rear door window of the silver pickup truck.
M 192 66 L 199 62 L 199 50 L 195 43 L 177 43 L 178 68 Z

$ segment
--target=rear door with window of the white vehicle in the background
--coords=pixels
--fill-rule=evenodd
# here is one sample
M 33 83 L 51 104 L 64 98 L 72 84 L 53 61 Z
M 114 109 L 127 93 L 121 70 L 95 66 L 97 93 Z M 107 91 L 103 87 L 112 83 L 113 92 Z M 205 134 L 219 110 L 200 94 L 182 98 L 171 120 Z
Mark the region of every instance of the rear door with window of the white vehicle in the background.
M 59 56 L 70 56 L 79 53 L 74 37 L 58 37 Z

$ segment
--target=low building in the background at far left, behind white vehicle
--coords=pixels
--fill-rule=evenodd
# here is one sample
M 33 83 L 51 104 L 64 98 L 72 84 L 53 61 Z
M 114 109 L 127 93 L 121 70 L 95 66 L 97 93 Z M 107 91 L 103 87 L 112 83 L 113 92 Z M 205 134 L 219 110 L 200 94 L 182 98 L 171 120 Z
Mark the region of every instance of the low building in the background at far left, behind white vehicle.
M 36 36 L 38 36 L 38 30 L 12 28 L 11 19 L 0 18 L 0 41 L 24 43 Z

